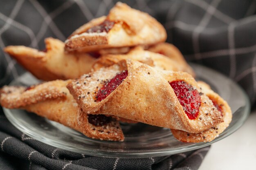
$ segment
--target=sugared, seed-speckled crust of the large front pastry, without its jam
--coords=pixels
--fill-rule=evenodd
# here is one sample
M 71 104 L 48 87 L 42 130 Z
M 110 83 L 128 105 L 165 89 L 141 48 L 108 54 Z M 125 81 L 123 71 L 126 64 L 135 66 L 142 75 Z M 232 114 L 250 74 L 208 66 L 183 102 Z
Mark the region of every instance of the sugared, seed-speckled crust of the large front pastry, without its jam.
M 103 81 L 128 70 L 128 76 L 106 99 L 96 101 Z M 146 64 L 122 60 L 118 64 L 83 75 L 67 85 L 79 106 L 90 114 L 109 114 L 142 123 L 175 128 L 188 132 L 202 132 L 222 122 L 218 110 L 206 95 L 201 95 L 198 117 L 190 120 L 168 81 L 183 80 L 201 91 L 188 73 L 159 71 Z M 90 93 L 88 93 L 90 92 Z M 206 103 L 204 103 L 206 102 Z

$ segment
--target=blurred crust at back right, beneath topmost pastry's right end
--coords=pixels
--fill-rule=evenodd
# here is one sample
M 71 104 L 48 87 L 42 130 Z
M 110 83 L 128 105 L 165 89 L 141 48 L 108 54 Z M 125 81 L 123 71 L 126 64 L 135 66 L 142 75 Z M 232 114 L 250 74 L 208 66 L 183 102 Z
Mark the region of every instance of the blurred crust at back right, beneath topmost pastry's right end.
M 169 44 L 166 42 L 159 43 L 154 46 L 150 46 L 148 51 L 152 51 L 154 53 L 160 53 L 162 55 L 165 55 L 171 58 L 172 60 L 175 60 L 184 72 L 187 72 L 191 74 L 193 77 L 195 77 L 195 72 L 189 66 L 189 64 L 187 64 L 180 50 L 177 49 L 177 47 L 174 46 L 173 44 Z

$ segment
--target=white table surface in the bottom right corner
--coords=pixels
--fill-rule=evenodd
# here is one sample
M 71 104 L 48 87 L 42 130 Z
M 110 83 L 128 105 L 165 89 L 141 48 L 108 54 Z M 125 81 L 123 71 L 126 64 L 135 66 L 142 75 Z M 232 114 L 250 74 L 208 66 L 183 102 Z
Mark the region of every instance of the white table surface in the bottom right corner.
M 240 129 L 211 145 L 199 170 L 256 170 L 256 111 Z

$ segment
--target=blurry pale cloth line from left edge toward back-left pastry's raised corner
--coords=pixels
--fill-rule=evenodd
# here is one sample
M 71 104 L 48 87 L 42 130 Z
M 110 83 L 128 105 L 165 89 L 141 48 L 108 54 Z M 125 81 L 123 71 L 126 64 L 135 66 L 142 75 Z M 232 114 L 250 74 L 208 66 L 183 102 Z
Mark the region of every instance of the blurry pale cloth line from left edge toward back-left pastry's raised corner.
M 17 29 L 20 29 L 20 30 L 26 32 L 27 35 L 29 35 L 29 38 L 30 38 L 31 42 L 35 38 L 34 32 L 29 27 L 21 24 L 20 22 L 17 22 L 17 21 L 12 20 L 12 19 L 8 20 L 8 17 L 5 16 L 3 13 L 0 13 L 0 19 L 4 20 L 6 22 L 9 22 L 9 24 L 11 24 L 12 26 L 15 26 Z M 33 45 L 33 47 L 38 47 L 38 43 L 34 43 L 32 45 Z

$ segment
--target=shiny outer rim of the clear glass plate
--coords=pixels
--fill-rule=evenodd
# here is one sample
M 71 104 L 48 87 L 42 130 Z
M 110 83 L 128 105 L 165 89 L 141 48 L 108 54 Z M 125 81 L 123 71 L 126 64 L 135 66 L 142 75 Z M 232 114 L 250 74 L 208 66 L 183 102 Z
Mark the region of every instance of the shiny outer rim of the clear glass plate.
M 210 68 L 198 65 L 198 64 L 191 64 L 193 67 L 200 67 L 203 69 L 208 69 L 211 70 L 212 72 L 217 73 L 218 75 L 225 77 L 224 75 L 218 73 L 217 71 L 214 71 Z M 227 78 L 227 77 L 226 77 Z M 231 80 L 232 81 L 232 80 Z M 246 106 L 245 106 L 245 111 L 244 111 L 244 115 L 241 117 L 241 119 L 239 119 L 236 124 L 233 125 L 232 129 L 229 129 L 229 132 L 227 133 L 226 131 L 222 132 L 222 134 L 220 134 L 220 136 L 216 139 L 214 139 L 211 142 L 207 142 L 207 143 L 195 143 L 195 144 L 191 144 L 189 146 L 180 146 L 178 148 L 175 148 L 175 150 L 173 149 L 155 149 L 155 150 L 151 150 L 150 152 L 140 152 L 139 150 L 129 150 L 128 152 L 126 151 L 114 151 L 114 150 L 90 150 L 90 148 L 84 148 L 83 150 L 74 150 L 75 147 L 71 147 L 68 145 L 68 142 L 64 142 L 65 146 L 63 146 L 63 141 L 59 142 L 59 141 L 53 141 L 52 139 L 46 139 L 45 137 L 38 137 L 36 135 L 34 135 L 33 133 L 30 132 L 30 130 L 27 127 L 22 127 L 19 124 L 17 124 L 15 121 L 13 121 L 13 119 L 15 119 L 15 117 L 13 117 L 13 115 L 11 114 L 11 110 L 3 108 L 4 113 L 7 117 L 7 119 L 11 122 L 11 124 L 13 124 L 16 128 L 18 128 L 18 130 L 20 130 L 21 132 L 24 132 L 26 135 L 28 135 L 29 137 L 32 137 L 34 139 L 37 139 L 38 141 L 41 141 L 43 143 L 47 142 L 48 145 L 54 146 L 64 150 L 68 150 L 68 151 L 72 151 L 72 152 L 79 152 L 82 154 L 86 154 L 86 155 L 92 155 L 92 156 L 101 156 L 101 157 L 122 157 L 122 158 L 136 158 L 136 157 L 152 157 L 152 155 L 154 155 L 154 157 L 158 157 L 158 156 L 165 156 L 165 155 L 173 155 L 173 154 L 177 154 L 177 153 L 182 153 L 182 152 L 187 152 L 187 151 L 191 151 L 191 150 L 195 150 L 195 149 L 199 149 L 199 148 L 203 148 L 205 146 L 209 146 L 213 143 L 215 143 L 216 141 L 219 141 L 229 135 L 231 135 L 232 133 L 234 133 L 236 130 L 238 130 L 238 128 L 240 128 L 245 120 L 247 119 L 247 117 L 249 116 L 250 113 L 250 102 L 249 102 L 249 98 L 247 97 L 247 94 L 245 93 L 245 91 L 238 85 L 236 84 L 234 81 L 232 81 L 234 83 L 234 85 L 236 85 L 236 88 L 238 90 L 240 90 L 243 93 L 243 97 L 245 99 L 246 102 Z M 127 155 L 128 154 L 128 155 Z

